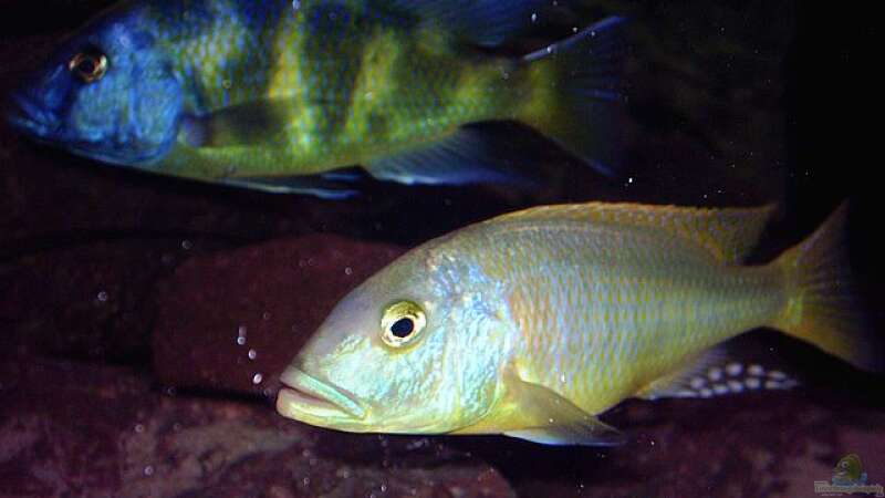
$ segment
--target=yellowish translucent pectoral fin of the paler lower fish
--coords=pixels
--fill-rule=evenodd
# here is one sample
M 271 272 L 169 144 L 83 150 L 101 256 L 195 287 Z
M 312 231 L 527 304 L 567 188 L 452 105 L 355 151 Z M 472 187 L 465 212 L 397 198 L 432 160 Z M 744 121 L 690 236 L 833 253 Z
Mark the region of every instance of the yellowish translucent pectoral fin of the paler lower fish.
M 513 373 L 508 398 L 516 406 L 504 435 L 544 445 L 615 446 L 626 442 L 616 428 L 584 412 L 560 394 Z

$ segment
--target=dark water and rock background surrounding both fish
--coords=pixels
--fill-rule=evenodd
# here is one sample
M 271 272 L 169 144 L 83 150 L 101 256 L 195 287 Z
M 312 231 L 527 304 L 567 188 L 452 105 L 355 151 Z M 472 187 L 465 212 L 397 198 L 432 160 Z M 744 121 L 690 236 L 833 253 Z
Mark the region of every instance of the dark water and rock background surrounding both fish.
M 0 92 L 104 4 L 0 2 Z M 539 204 L 778 201 L 763 260 L 851 198 L 863 299 L 882 309 L 875 18 L 601 1 L 539 40 L 605 13 L 633 19 L 617 180 L 528 135 L 537 191 L 367 183 L 331 203 L 100 166 L 0 128 L 0 496 L 813 496 L 848 453 L 885 484 L 882 377 L 767 331 L 748 347 L 806 387 L 627 402 L 604 417 L 631 437 L 615 449 L 346 435 L 273 413 L 275 374 L 361 279 Z

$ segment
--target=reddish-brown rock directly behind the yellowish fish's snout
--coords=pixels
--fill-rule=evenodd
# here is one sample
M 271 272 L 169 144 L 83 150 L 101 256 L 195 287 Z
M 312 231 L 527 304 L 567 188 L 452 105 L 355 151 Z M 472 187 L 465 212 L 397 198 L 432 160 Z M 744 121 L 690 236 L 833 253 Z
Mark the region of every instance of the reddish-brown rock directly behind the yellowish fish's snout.
M 335 303 L 402 252 L 315 235 L 191 258 L 158 288 L 157 375 L 275 393 L 277 376 Z

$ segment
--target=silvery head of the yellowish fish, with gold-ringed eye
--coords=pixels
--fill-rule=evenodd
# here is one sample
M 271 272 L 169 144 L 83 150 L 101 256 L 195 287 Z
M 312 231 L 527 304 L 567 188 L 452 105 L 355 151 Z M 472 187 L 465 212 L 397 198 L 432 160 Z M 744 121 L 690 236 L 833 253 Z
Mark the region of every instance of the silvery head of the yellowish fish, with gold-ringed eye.
M 469 261 L 418 248 L 347 294 L 283 372 L 277 409 L 357 433 L 442 434 L 500 393 L 507 324 Z M 458 277 L 459 276 L 459 277 Z

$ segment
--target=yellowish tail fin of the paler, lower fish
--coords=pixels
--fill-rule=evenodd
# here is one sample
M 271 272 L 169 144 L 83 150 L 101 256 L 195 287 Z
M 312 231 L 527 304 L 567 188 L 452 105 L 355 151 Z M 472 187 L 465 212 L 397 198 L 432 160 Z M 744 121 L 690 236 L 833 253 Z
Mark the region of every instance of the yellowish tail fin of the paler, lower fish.
M 848 266 L 847 211 L 844 203 L 818 231 L 774 261 L 783 269 L 790 292 L 774 326 L 860 369 L 881 372 L 882 338 L 857 303 Z

